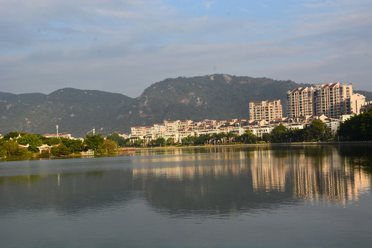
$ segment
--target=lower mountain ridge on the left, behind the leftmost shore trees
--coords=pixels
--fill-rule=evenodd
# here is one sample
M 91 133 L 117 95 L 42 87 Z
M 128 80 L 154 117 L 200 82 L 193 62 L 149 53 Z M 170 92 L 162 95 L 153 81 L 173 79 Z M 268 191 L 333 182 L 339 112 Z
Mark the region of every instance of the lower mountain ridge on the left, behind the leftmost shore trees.
M 85 136 L 93 127 L 110 126 L 111 117 L 132 98 L 98 90 L 65 88 L 51 94 L 0 93 L 0 133 L 10 131 Z M 97 130 L 97 132 L 102 130 Z

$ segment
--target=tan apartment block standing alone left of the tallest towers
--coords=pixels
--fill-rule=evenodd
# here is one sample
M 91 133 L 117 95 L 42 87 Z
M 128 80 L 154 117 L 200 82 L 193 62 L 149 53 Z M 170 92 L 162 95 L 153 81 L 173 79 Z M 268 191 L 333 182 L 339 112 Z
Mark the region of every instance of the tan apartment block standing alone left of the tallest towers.
M 249 103 L 249 119 L 271 121 L 282 118 L 282 104 L 280 100 L 254 101 Z

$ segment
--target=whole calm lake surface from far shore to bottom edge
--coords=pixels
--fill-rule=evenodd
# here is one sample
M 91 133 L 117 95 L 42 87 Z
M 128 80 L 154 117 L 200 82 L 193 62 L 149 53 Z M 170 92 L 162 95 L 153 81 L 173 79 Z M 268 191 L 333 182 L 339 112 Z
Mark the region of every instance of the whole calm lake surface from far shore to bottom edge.
M 0 163 L 0 247 L 372 247 L 372 147 Z

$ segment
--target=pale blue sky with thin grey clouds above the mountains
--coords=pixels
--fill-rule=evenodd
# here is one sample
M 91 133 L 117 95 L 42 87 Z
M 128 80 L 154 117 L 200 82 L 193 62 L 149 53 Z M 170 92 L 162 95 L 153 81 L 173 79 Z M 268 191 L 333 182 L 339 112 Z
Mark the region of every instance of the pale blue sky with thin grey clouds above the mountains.
M 0 0 L 0 92 L 215 73 L 372 91 L 372 1 Z

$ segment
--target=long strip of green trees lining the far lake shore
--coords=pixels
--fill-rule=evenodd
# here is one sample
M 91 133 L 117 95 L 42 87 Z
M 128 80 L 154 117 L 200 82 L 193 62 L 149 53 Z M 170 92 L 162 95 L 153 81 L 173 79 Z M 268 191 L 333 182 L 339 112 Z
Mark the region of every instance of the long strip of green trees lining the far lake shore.
M 39 134 L 9 132 L 0 138 L 1 158 L 36 158 L 48 156 L 79 155 L 81 152 L 93 150 L 95 154 L 114 154 L 118 147 L 164 147 L 166 145 L 220 145 L 220 144 L 254 144 L 254 143 L 295 143 L 318 141 L 372 141 L 372 110 L 358 114 L 340 124 L 338 132 L 331 132 L 320 120 L 313 121 L 303 129 L 289 130 L 278 125 L 271 134 L 262 137 L 247 130 L 245 134 L 233 133 L 201 134 L 187 136 L 177 144 L 174 138 L 160 137 L 147 143 L 138 139 L 131 143 L 117 133 L 104 138 L 101 134 L 86 135 L 83 140 L 70 138 L 46 138 Z M 38 147 L 46 144 L 51 148 L 39 152 Z

